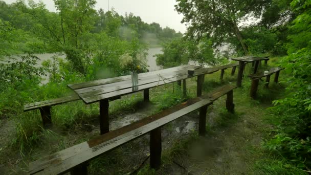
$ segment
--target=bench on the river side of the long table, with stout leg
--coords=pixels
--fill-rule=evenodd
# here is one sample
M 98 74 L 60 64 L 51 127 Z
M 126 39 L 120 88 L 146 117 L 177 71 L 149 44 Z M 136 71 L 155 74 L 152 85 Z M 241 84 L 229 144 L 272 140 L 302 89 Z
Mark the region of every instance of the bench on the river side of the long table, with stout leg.
M 72 95 L 72 96 L 68 96 L 68 97 L 62 97 L 62 98 L 57 98 L 57 99 L 52 99 L 52 100 L 45 100 L 45 101 L 39 101 L 39 102 L 35 102 L 35 103 L 25 104 L 24 105 L 24 112 L 39 109 L 40 113 L 41 113 L 43 127 L 47 128 L 47 127 L 50 127 L 52 125 L 52 117 L 51 117 L 51 107 L 52 106 L 76 101 L 79 99 L 80 98 L 78 95 Z M 116 100 L 116 99 L 120 99 L 120 97 L 110 99 L 110 100 Z

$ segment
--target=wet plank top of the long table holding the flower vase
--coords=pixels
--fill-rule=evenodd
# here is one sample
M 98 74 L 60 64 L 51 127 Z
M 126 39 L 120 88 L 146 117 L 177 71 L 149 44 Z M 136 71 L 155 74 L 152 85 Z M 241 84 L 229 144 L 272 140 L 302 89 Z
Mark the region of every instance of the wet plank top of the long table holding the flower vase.
M 194 69 L 194 74 L 189 75 L 188 69 Z M 121 76 L 101 79 L 96 81 L 69 84 L 72 89 L 86 104 L 100 100 L 123 96 L 159 85 L 180 81 L 202 74 L 217 72 L 217 68 L 203 68 L 197 65 L 181 65 L 179 67 L 138 74 L 138 89 L 132 90 L 131 76 Z

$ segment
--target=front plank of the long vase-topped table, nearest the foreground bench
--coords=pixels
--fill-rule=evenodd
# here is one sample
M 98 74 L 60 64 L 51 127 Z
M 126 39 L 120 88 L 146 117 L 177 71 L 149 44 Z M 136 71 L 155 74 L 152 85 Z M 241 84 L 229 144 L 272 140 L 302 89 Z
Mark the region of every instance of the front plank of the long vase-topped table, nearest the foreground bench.
M 113 91 L 113 92 L 110 92 L 110 93 L 87 94 L 87 95 L 81 94 L 79 96 L 82 98 L 82 100 L 86 104 L 91 104 L 91 103 L 94 103 L 94 102 L 98 102 L 99 100 L 103 100 L 103 99 L 107 99 L 107 98 L 112 98 L 112 97 L 120 96 L 120 95 L 131 94 L 131 93 L 143 91 L 145 89 L 154 88 L 156 86 L 163 85 L 163 84 L 166 84 L 166 83 L 171 83 L 171 82 L 183 80 L 183 79 L 186 79 L 186 78 L 195 77 L 195 76 L 198 76 L 198 75 L 211 74 L 211 73 L 214 73 L 214 72 L 217 72 L 217 71 L 218 71 L 218 69 L 214 69 L 214 68 L 212 68 L 212 69 L 211 68 L 199 68 L 199 69 L 194 71 L 194 74 L 192 76 L 187 74 L 187 75 L 182 75 L 182 76 L 179 76 L 179 77 L 173 77 L 173 78 L 169 78 L 169 79 L 163 79 L 163 80 L 160 80 L 160 81 L 157 81 L 157 82 L 143 84 L 143 85 L 138 86 L 138 90 L 136 90 L 136 91 L 133 91 L 132 88 L 127 88 L 127 89 L 122 89 L 122 90 L 119 90 L 119 91 Z

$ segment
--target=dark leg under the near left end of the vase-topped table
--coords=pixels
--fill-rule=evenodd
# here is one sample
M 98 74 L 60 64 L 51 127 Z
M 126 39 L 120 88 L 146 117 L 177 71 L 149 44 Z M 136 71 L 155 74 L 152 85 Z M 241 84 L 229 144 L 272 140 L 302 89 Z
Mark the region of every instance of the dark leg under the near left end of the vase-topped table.
M 100 134 L 109 132 L 109 102 L 108 100 L 99 101 L 99 125 Z

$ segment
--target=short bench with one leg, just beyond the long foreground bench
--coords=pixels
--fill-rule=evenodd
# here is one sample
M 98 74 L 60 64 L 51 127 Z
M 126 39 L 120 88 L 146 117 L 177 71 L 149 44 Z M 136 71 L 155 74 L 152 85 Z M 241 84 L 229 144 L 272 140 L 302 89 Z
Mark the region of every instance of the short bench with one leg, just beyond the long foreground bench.
M 236 89 L 236 85 L 224 85 L 220 88 L 214 90 L 213 92 L 204 95 L 203 98 L 209 99 L 210 101 L 215 101 L 223 95 L 227 94 L 226 108 L 230 113 L 234 113 L 234 103 L 233 103 L 233 90 Z

